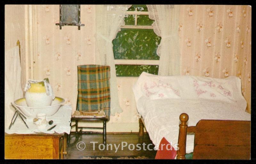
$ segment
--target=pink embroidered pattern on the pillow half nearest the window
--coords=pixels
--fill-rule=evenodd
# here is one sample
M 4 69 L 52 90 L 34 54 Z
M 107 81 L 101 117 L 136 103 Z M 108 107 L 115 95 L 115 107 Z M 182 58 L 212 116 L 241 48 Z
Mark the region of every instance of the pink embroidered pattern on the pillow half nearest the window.
M 149 86 L 149 87 L 147 86 L 147 83 L 144 84 L 144 89 L 145 89 L 145 91 L 146 91 L 146 96 L 149 97 L 149 96 L 152 95 L 152 94 L 156 94 L 156 92 L 150 92 L 149 89 L 152 89 L 152 88 L 155 88 L 155 87 L 160 87 L 160 86 L 162 86 L 162 87 L 164 87 L 164 88 L 170 88 L 170 89 L 172 89 L 172 91 L 173 91 L 176 95 L 180 96 L 180 91 L 179 91 L 179 89 L 174 89 L 174 88 L 172 87 L 172 85 L 170 85 L 170 84 L 164 84 L 161 80 L 159 80 L 159 84 L 156 84 L 156 82 L 154 81 L 154 82 L 153 82 L 153 86 Z M 164 94 L 163 94 L 163 93 L 159 93 L 159 94 L 158 94 L 158 97 L 164 97 Z

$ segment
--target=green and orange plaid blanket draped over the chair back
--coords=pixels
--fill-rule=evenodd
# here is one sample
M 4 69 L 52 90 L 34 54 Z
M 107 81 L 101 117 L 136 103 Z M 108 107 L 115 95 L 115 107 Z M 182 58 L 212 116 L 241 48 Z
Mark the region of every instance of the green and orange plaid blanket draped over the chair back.
M 110 116 L 110 66 L 78 65 L 78 94 L 76 110 L 104 110 Z

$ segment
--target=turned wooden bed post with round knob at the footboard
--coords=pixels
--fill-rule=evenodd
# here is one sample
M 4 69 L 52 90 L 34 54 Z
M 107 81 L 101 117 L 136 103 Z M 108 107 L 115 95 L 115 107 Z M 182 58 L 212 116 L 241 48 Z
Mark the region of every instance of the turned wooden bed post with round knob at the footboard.
M 179 131 L 179 140 L 178 140 L 178 147 L 179 150 L 177 151 L 177 159 L 183 160 L 185 159 L 186 154 L 186 140 L 187 140 L 187 125 L 188 115 L 186 113 L 182 113 L 180 115 L 180 131 Z

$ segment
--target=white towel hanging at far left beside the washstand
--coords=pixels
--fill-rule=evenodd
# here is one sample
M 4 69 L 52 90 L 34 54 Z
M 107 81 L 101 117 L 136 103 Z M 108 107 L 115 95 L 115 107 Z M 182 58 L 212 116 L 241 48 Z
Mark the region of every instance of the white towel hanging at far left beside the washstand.
M 4 126 L 9 127 L 15 110 L 11 102 L 22 98 L 19 47 L 4 51 Z

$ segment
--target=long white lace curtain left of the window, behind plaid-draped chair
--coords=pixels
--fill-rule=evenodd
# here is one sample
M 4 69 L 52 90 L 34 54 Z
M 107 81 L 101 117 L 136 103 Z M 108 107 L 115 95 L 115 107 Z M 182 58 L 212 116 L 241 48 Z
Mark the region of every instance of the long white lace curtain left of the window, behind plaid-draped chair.
M 110 114 L 122 112 L 119 105 L 113 39 L 125 24 L 125 12 L 131 5 L 96 5 L 96 64 L 110 66 Z

